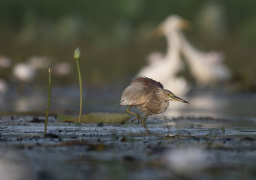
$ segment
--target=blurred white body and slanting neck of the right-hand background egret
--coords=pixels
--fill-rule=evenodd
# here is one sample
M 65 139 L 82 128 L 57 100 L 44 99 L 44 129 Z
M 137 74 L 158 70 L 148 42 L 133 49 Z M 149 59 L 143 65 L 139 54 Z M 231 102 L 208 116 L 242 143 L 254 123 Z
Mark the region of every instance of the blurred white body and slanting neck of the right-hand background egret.
M 222 52 L 202 52 L 195 49 L 181 33 L 182 54 L 198 86 L 213 86 L 230 80 L 231 74 L 224 64 Z

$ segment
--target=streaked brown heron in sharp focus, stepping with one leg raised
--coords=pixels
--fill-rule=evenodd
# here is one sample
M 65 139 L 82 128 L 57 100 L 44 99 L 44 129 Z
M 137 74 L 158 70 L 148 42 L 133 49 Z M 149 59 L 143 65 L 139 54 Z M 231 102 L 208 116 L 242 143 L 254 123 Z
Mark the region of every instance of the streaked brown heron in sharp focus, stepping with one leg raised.
M 142 76 L 136 77 L 130 85 L 124 89 L 120 104 L 123 106 L 129 105 L 127 112 L 137 117 L 132 121 L 138 119 L 138 125 L 139 121 L 141 121 L 145 130 L 149 132 L 145 122 L 147 116 L 165 112 L 171 100 L 187 103 L 187 101 L 175 96 L 171 91 L 163 89 L 163 85 L 160 82 Z M 130 107 L 132 106 L 137 107 L 145 113 L 143 121 L 141 116 L 130 111 Z

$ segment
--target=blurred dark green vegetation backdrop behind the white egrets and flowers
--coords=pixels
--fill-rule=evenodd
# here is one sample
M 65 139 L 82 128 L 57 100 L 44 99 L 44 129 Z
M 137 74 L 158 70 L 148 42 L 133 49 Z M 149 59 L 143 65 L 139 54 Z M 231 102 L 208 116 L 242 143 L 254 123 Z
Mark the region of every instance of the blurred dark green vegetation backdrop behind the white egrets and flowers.
M 254 0 L 1 0 L 0 56 L 10 57 L 13 65 L 31 56 L 48 56 L 50 65 L 69 62 L 73 73 L 53 75 L 53 83 L 72 85 L 78 84 L 73 52 L 79 46 L 84 83 L 127 85 L 150 52 L 165 52 L 165 38 L 151 37 L 151 30 L 178 14 L 192 22 L 185 32 L 190 43 L 225 53 L 233 91 L 251 92 L 256 89 L 255 8 Z M 2 79 L 11 76 L 11 68 L 1 70 Z M 35 82 L 47 80 L 47 70 L 41 70 Z

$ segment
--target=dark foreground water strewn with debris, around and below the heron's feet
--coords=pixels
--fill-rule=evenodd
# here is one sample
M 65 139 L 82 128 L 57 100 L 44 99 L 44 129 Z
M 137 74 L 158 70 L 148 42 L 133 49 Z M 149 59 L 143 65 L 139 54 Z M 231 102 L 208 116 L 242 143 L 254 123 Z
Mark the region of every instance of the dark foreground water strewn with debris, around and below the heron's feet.
M 148 119 L 82 124 L 2 116 L 4 179 L 255 179 L 256 118 Z M 1 178 L 2 179 L 2 178 Z

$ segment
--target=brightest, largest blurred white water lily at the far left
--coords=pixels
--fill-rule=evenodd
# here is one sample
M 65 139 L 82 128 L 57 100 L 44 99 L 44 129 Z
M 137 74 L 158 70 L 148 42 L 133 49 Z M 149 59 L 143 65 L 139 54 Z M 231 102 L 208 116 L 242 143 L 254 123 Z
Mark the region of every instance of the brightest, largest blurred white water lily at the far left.
M 22 82 L 31 82 L 35 78 L 35 70 L 29 64 L 20 63 L 14 65 L 13 75 Z

